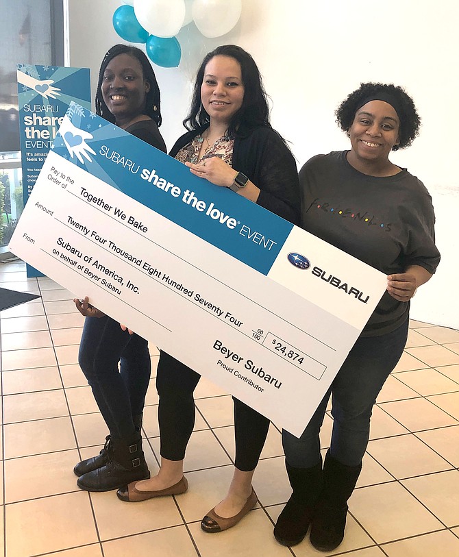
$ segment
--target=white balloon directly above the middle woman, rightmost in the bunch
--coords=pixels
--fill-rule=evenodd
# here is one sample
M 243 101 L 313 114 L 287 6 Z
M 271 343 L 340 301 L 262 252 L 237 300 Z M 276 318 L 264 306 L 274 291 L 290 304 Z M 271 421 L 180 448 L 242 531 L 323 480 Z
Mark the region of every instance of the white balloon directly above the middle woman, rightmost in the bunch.
M 242 0 L 195 0 L 193 19 L 203 36 L 219 37 L 238 23 L 242 8 Z

